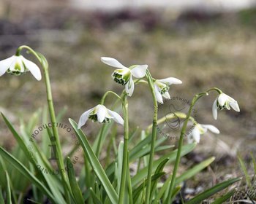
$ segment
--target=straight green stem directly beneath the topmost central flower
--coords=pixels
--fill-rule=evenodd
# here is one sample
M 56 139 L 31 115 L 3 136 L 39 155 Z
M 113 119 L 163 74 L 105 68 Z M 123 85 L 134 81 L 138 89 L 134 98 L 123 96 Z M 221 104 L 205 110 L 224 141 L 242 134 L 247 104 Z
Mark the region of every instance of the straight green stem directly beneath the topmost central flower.
M 122 102 L 124 112 L 124 150 L 123 150 L 123 164 L 121 169 L 121 185 L 119 190 L 118 204 L 124 203 L 124 191 L 127 184 L 127 170 L 128 166 L 128 139 L 129 139 L 129 117 L 128 117 L 128 101 L 127 95 L 124 95 Z

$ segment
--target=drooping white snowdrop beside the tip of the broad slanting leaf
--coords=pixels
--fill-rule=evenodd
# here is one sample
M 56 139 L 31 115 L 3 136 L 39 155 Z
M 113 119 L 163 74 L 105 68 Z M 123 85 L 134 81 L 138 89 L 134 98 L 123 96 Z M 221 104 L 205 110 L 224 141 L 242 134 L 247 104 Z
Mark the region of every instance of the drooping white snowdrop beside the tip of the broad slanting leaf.
M 79 119 L 78 129 L 85 125 L 88 119 L 100 123 L 110 122 L 111 119 L 113 119 L 117 123 L 124 125 L 124 119 L 122 119 L 118 113 L 107 109 L 103 105 L 97 105 L 94 108 L 85 111 Z

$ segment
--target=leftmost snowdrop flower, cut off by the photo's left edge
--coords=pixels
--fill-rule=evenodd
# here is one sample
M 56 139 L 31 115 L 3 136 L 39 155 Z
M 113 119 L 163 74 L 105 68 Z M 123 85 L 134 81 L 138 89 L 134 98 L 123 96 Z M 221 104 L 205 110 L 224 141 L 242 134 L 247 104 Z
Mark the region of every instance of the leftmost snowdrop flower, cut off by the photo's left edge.
M 4 75 L 5 72 L 19 76 L 26 71 L 30 71 L 38 81 L 42 79 L 39 67 L 30 60 L 26 60 L 22 55 L 13 55 L 0 61 L 0 76 Z

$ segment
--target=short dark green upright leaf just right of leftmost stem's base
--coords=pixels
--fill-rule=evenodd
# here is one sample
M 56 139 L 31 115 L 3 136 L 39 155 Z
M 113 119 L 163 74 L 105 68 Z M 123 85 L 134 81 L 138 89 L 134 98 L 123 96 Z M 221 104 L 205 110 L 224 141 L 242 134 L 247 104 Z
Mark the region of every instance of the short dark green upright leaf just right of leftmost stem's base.
M 69 184 L 72 190 L 73 197 L 75 199 L 75 203 L 84 203 L 82 192 L 78 187 L 78 182 L 75 178 L 75 170 L 73 164 L 69 157 L 67 157 L 67 175 L 69 177 Z

